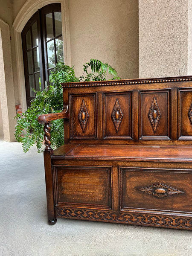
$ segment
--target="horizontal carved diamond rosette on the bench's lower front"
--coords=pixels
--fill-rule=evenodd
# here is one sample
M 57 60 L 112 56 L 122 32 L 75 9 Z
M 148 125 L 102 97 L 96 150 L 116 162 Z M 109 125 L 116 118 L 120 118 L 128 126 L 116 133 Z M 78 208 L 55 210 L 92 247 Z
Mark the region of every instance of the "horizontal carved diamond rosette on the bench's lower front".
M 157 198 L 164 198 L 170 195 L 176 195 L 180 193 L 184 193 L 178 189 L 174 189 L 170 186 L 164 185 L 162 183 L 157 183 L 152 186 L 147 186 L 139 189 L 140 191 L 147 193 L 149 195 L 153 195 Z

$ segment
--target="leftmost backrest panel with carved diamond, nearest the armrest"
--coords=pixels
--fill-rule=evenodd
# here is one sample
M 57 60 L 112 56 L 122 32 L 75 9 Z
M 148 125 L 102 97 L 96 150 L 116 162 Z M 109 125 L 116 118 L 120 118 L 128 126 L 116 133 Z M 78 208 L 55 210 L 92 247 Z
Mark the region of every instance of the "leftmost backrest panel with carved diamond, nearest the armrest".
M 96 94 L 70 95 L 70 133 L 75 139 L 95 139 Z

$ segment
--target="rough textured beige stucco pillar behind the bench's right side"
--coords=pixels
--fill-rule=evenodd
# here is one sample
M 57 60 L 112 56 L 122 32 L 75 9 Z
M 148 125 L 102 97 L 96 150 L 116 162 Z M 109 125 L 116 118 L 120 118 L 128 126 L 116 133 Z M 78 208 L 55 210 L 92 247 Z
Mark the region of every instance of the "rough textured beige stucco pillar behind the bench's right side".
M 188 0 L 139 0 L 139 76 L 186 75 L 187 48 Z

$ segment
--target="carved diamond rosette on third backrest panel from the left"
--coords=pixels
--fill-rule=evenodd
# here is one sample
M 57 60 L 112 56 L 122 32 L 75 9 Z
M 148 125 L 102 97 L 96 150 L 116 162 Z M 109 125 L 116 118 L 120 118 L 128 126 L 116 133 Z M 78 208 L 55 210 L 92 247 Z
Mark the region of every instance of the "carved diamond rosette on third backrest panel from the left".
M 157 130 L 157 125 L 159 123 L 160 116 L 161 116 L 160 109 L 159 109 L 159 107 L 157 105 L 157 101 L 154 97 L 154 99 L 151 103 L 151 108 L 148 113 L 148 118 L 149 118 L 149 121 L 151 122 L 151 126 L 152 126 L 154 132 L 156 132 L 156 130 Z

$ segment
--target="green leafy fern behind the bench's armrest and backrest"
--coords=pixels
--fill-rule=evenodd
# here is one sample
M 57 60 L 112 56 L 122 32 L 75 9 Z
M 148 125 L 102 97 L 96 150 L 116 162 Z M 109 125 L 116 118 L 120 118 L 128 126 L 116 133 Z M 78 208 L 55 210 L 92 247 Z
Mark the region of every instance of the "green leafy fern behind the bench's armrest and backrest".
M 107 72 L 113 76 L 112 79 L 119 79 L 116 70 L 102 61 L 90 59 L 83 65 L 83 75 L 79 78 L 75 76 L 73 67 L 58 62 L 51 74 L 49 87 L 43 91 L 35 91 L 35 99 L 27 108 L 22 116 L 17 115 L 17 124 L 15 126 L 15 139 L 22 143 L 23 151 L 27 152 L 35 143 L 38 153 L 42 152 L 42 144 L 44 141 L 43 125 L 38 123 L 38 116 L 46 113 L 57 113 L 63 108 L 62 87 L 61 83 L 78 82 L 78 81 L 102 81 L 106 80 Z M 91 73 L 87 69 L 90 67 Z M 84 74 L 86 76 L 84 77 Z M 58 119 L 52 121 L 51 128 L 51 144 L 52 148 L 57 148 L 64 144 L 64 125 L 63 120 Z

